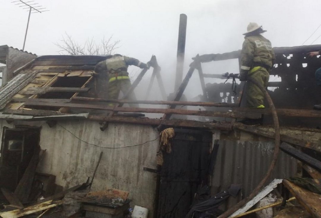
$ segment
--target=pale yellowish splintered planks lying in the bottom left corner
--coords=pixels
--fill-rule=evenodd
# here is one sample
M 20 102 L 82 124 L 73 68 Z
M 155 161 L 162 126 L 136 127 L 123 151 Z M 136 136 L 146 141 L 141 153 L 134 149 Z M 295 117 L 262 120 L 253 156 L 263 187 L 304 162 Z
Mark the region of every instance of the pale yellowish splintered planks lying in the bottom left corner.
M 17 217 L 26 216 L 28 214 L 36 213 L 38 211 L 46 210 L 48 208 L 52 208 L 61 204 L 63 204 L 63 201 L 61 200 L 58 200 L 58 201 L 50 200 L 50 201 L 46 201 L 44 203 L 29 206 L 26 208 L 3 212 L 3 213 L 0 213 L 0 216 L 3 218 L 17 218 Z

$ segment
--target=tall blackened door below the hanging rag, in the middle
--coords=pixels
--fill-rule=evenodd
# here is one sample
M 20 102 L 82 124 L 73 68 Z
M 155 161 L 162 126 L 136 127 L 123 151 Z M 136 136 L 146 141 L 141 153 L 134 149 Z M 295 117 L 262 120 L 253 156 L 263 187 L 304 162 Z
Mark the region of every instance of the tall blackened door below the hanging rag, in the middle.
M 185 217 L 198 187 L 208 182 L 211 142 L 212 133 L 175 129 L 172 153 L 163 153 L 158 218 Z

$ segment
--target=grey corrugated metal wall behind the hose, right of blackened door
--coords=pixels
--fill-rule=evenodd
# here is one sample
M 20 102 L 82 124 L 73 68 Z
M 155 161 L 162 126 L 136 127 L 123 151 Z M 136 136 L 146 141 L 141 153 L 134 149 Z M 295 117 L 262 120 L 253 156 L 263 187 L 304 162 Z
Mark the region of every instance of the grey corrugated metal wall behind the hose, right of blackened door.
M 248 196 L 265 176 L 272 161 L 273 148 L 273 141 L 220 140 L 211 181 L 212 194 L 225 190 L 230 184 L 242 184 L 243 198 Z M 296 172 L 296 159 L 280 151 L 270 181 L 293 176 Z M 225 209 L 236 202 L 231 197 Z

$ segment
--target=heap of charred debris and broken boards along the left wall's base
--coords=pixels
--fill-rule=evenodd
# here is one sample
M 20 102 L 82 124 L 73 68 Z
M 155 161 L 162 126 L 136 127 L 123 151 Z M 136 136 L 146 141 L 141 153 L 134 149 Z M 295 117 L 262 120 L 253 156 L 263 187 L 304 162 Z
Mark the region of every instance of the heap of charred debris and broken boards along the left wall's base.
M 8 203 L 3 204 L 0 217 L 104 217 L 104 214 L 124 217 L 129 213 L 129 192 L 117 189 L 90 192 L 102 152 L 91 181 L 88 177 L 87 182 L 66 190 L 55 183 L 56 176 L 36 173 L 44 153 L 39 147 L 35 150 L 14 192 L 1 188 Z

